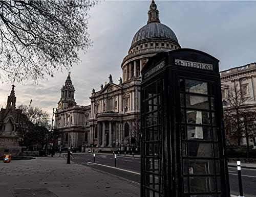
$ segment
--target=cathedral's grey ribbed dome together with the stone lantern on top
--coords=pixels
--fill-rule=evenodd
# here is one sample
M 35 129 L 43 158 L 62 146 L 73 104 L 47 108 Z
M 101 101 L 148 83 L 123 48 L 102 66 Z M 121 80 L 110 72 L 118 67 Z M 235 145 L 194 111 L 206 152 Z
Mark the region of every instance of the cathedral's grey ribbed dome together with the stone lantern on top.
M 135 43 L 146 40 L 146 39 L 168 39 L 179 44 L 178 39 L 169 27 L 162 24 L 159 20 L 159 11 L 157 10 L 157 5 L 155 4 L 154 0 L 150 5 L 150 10 L 147 12 L 148 20 L 147 24 L 139 29 L 139 31 L 134 35 L 132 46 Z

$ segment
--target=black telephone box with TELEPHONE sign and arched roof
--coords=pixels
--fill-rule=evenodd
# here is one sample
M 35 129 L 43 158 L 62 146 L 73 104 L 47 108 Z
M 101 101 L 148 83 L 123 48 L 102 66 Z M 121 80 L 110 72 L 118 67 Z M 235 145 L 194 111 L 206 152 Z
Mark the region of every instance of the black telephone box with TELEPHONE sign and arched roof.
M 219 60 L 182 48 L 141 73 L 141 196 L 230 196 Z

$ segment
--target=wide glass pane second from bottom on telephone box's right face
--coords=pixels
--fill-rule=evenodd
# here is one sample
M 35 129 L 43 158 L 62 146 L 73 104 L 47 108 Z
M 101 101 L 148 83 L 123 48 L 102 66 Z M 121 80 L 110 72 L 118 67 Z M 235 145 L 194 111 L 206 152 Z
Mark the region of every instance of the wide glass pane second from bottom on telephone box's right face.
M 214 174 L 214 160 L 189 159 L 188 173 L 189 175 Z

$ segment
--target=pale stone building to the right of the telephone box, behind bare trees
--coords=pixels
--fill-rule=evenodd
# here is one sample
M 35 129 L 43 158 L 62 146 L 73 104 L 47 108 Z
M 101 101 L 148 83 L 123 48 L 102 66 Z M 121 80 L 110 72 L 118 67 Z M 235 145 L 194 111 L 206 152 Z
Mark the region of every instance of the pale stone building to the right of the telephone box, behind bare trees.
M 246 111 L 256 110 L 256 63 L 230 68 L 220 72 L 223 110 L 230 108 L 227 99 L 235 88 L 238 91 L 238 102 L 243 102 Z M 241 95 L 241 97 L 240 97 Z M 241 101 L 240 101 L 241 100 Z M 256 136 L 255 136 L 256 137 Z M 256 144 L 256 138 L 249 139 L 249 144 Z M 246 139 L 241 139 L 241 145 L 246 145 Z

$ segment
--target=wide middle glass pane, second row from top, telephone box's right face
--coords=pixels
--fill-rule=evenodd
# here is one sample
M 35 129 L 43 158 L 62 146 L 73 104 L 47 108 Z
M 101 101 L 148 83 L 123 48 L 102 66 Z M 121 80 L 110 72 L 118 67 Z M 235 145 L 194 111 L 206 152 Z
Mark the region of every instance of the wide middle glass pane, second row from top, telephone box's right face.
M 196 109 L 209 109 L 207 96 L 186 95 L 186 107 Z

